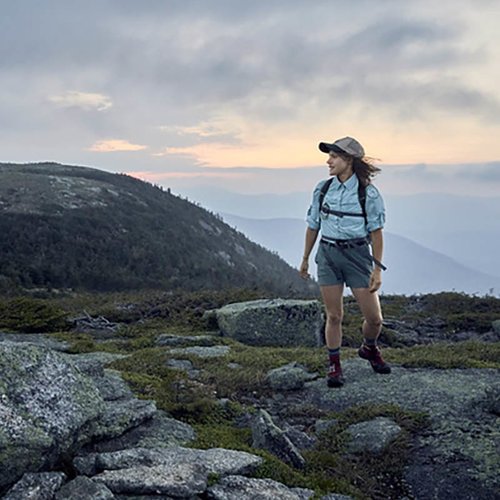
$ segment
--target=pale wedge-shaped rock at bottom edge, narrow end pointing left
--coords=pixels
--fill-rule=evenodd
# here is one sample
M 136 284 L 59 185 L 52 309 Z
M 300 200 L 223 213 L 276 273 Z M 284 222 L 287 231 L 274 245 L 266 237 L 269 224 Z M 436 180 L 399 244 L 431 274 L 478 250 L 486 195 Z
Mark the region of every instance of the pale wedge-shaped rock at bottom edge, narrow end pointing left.
M 139 495 L 170 495 L 189 498 L 203 493 L 207 487 L 207 473 L 201 464 L 178 463 L 136 466 L 130 469 L 105 471 L 93 477 L 114 493 Z

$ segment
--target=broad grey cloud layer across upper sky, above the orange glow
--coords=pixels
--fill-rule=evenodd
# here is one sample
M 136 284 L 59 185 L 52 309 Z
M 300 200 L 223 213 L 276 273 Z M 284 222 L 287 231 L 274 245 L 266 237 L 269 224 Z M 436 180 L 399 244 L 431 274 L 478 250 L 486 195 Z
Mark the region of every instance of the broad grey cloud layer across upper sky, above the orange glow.
M 464 24 L 433 20 L 423 8 L 409 15 L 394 8 L 399 2 L 353 4 L 8 2 L 0 18 L 2 135 L 19 130 L 30 142 L 38 134 L 40 142 L 59 137 L 63 144 L 73 138 L 80 148 L 102 138 L 151 150 L 199 140 L 234 144 L 231 133 L 199 139 L 155 127 L 193 126 L 227 109 L 292 121 L 325 102 L 381 110 L 403 125 L 434 111 L 498 123 L 498 99 L 454 78 L 487 56 L 460 43 Z M 82 113 L 47 99 L 70 91 L 109 96 L 113 107 Z M 181 160 L 151 165 L 173 168 Z

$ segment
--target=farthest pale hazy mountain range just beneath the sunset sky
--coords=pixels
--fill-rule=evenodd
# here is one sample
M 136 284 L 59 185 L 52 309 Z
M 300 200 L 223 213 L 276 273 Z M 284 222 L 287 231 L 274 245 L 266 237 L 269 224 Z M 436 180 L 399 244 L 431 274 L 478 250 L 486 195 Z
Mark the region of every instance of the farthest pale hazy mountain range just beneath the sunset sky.
M 247 219 L 305 219 L 311 193 L 237 194 L 217 187 L 184 194 L 204 207 Z M 385 196 L 386 230 L 500 280 L 500 196 Z M 464 284 L 465 285 L 465 284 Z

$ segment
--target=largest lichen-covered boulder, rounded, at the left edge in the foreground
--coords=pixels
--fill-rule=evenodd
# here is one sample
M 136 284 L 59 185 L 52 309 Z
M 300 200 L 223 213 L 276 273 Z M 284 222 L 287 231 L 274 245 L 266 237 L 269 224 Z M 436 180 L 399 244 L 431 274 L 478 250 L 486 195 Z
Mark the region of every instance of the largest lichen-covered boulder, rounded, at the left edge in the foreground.
M 0 343 L 0 487 L 77 450 L 103 407 L 92 380 L 61 353 Z

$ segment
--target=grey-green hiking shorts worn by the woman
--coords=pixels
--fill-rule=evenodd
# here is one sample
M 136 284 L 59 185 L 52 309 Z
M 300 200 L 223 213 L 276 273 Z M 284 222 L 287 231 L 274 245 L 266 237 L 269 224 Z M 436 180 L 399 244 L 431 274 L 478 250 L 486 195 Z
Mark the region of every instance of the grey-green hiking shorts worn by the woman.
M 373 261 L 368 243 L 352 248 L 338 248 L 320 242 L 314 261 L 318 266 L 320 286 L 345 283 L 349 288 L 368 288 L 370 284 Z

